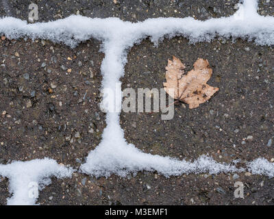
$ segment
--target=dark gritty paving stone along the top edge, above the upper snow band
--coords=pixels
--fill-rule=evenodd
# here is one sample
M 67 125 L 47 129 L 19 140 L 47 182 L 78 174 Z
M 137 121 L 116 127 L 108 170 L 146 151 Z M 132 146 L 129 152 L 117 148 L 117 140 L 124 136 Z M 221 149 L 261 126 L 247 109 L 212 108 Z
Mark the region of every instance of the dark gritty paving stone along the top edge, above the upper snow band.
M 7 0 L 8 1 L 8 0 Z M 16 0 L 10 2 L 11 14 L 17 18 L 27 20 L 28 7 L 32 1 Z M 39 8 L 39 21 L 54 21 L 66 18 L 71 14 L 81 14 L 88 17 L 106 18 L 116 16 L 123 21 L 144 21 L 155 17 L 185 17 L 206 20 L 211 17 L 229 16 L 236 9 L 236 0 L 227 1 L 169 1 L 169 0 L 138 0 L 138 1 L 36 1 Z

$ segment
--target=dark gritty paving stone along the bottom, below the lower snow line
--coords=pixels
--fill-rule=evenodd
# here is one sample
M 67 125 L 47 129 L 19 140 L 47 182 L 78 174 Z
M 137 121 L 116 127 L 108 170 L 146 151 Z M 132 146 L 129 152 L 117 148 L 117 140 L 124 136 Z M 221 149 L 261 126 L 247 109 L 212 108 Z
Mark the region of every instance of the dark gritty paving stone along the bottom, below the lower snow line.
M 258 176 L 183 175 L 139 172 L 136 177 L 94 179 L 75 174 L 53 180 L 42 192 L 42 205 L 273 205 L 273 179 Z M 235 177 L 236 178 L 236 177 Z M 234 198 L 234 183 L 245 184 L 245 199 Z

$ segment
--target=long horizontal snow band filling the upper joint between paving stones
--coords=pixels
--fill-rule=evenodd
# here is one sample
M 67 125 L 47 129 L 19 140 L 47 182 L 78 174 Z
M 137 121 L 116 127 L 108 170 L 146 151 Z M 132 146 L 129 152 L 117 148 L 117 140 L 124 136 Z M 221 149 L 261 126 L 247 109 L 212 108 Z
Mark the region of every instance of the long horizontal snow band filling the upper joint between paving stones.
M 18 18 L 0 19 L 0 33 L 9 38 L 49 39 L 64 42 L 70 46 L 97 38 L 104 42 L 122 44 L 121 49 L 132 47 L 136 42 L 150 36 L 157 43 L 164 36 L 181 35 L 191 42 L 209 41 L 215 36 L 226 38 L 247 38 L 257 44 L 274 44 L 274 18 L 260 16 L 256 12 L 257 1 L 245 0 L 239 4 L 238 11 L 229 17 L 211 18 L 207 21 L 186 18 L 149 18 L 139 23 L 121 21 L 119 18 L 87 18 L 69 16 L 68 18 L 48 23 L 27 24 Z M 106 49 L 106 48 L 105 48 Z

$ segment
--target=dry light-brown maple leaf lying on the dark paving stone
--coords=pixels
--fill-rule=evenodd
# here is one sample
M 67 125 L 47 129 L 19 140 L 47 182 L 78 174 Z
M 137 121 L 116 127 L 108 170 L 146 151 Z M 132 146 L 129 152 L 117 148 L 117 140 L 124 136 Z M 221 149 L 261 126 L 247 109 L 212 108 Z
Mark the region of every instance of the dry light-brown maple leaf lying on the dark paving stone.
M 194 68 L 184 75 L 184 64 L 175 56 L 166 66 L 166 82 L 164 90 L 173 99 L 189 104 L 190 109 L 199 107 L 219 90 L 207 84 L 212 75 L 212 68 L 208 60 L 198 59 Z M 173 88 L 174 92 L 173 92 Z

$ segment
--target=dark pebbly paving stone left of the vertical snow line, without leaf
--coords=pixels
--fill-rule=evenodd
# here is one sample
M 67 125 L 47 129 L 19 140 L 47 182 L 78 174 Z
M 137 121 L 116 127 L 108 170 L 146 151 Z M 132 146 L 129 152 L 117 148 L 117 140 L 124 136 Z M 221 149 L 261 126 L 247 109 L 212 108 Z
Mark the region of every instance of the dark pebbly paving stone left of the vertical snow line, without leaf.
M 77 49 L 43 40 L 1 42 L 1 164 L 50 157 L 79 166 L 95 149 L 105 127 L 98 49 L 93 40 Z

